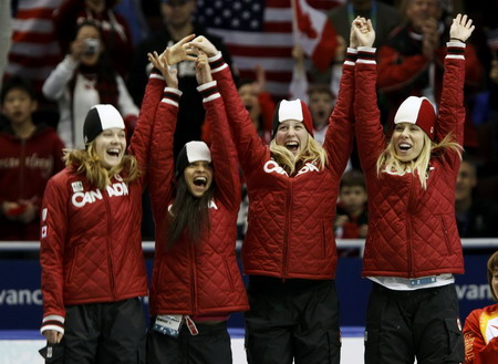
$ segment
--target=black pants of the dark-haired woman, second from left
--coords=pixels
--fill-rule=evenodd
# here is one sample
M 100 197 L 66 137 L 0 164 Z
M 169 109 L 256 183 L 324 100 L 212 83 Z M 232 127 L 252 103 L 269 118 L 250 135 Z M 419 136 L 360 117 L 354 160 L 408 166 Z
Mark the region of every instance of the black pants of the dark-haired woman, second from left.
M 152 321 L 154 324 L 154 319 Z M 154 330 L 147 333 L 147 364 L 231 364 L 230 335 L 227 322 L 196 323 L 191 335 L 184 323 L 178 337 Z

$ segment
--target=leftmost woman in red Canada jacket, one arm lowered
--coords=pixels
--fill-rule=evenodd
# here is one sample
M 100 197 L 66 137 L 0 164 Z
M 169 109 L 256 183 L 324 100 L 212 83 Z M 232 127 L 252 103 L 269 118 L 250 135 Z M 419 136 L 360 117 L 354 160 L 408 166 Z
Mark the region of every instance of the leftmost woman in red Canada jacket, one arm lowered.
M 145 363 L 147 295 L 142 252 L 142 193 L 156 105 L 153 73 L 126 154 L 123 117 L 110 104 L 85 117 L 84 149 L 64 155 L 41 210 L 43 322 L 64 363 Z

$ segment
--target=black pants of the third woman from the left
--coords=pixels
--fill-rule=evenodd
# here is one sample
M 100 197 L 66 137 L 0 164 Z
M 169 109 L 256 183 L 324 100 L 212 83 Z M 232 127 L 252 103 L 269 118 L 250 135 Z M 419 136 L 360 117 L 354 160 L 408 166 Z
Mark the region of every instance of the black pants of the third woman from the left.
M 334 281 L 274 279 L 248 287 L 246 312 L 249 364 L 339 364 L 339 300 Z M 256 285 L 256 287 L 255 287 Z

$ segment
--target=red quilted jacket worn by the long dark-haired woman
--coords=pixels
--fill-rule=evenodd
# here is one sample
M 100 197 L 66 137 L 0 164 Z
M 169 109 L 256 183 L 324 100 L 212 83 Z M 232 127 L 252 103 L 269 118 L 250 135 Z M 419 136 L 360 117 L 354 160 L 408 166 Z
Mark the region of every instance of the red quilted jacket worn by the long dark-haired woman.
M 199 87 L 206 122 L 211 129 L 211 158 L 216 193 L 209 208 L 209 233 L 197 245 L 184 233 L 166 249 L 163 223 L 174 201 L 173 136 L 178 104 L 165 89 L 154 128 L 151 160 L 151 198 L 156 221 L 156 257 L 151 287 L 152 315 L 217 315 L 249 309 L 246 288 L 237 266 L 237 214 L 241 189 L 237 156 L 231 143 L 224 102 L 214 83 Z M 210 96 L 209 96 L 210 95 Z

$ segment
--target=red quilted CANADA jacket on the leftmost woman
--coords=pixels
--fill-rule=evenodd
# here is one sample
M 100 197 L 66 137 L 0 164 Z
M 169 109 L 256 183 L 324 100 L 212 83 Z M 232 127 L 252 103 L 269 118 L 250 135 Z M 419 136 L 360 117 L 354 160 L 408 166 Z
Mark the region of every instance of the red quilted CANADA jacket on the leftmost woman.
M 129 146 L 144 174 L 106 190 L 91 186 L 74 167 L 49 180 L 43 197 L 40 261 L 43 316 L 62 321 L 65 305 L 147 295 L 142 252 L 142 193 L 154 113 L 164 81 L 151 77 Z M 58 318 L 52 318 L 58 315 Z M 59 318 L 60 316 L 60 318 Z M 52 329 L 46 322 L 42 331 Z

